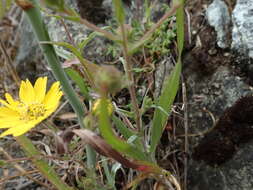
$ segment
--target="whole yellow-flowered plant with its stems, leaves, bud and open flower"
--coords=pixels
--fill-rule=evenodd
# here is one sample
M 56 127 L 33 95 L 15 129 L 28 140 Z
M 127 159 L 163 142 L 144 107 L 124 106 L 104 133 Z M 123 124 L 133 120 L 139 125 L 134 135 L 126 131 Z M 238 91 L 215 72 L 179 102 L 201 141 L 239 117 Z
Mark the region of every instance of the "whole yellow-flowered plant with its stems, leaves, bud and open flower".
M 3 0 L 1 1 L 3 2 Z M 0 137 L 13 135 L 28 156 L 39 158 L 40 152 L 24 134 L 56 110 L 64 92 L 75 111 L 81 128 L 63 131 L 60 136 L 57 136 L 58 145 L 64 147 L 62 148 L 63 154 L 67 155 L 68 148 L 66 147 L 68 147 L 68 144 L 71 143 L 71 140 L 75 136 L 78 136 L 86 143 L 86 164 L 88 168 L 86 172 L 91 172 L 89 174 L 86 173 L 86 176 L 95 176 L 94 179 L 96 179 L 95 165 L 97 164 L 97 158 L 94 154 L 94 151 L 96 151 L 138 172 L 136 179 L 125 186 L 126 189 L 135 187 L 145 178 L 154 178 L 162 184 L 162 188 L 169 187 L 180 190 L 180 182 L 175 175 L 157 165 L 155 151 L 179 88 L 183 49 L 182 35 L 184 29 L 183 0 L 175 0 L 174 5 L 169 11 L 157 23 L 150 24 L 149 30 L 135 40 L 129 39 L 125 24 L 125 12 L 121 0 L 113 0 L 115 19 L 118 24 L 118 29 L 115 29 L 117 32 L 114 33 L 99 28 L 81 18 L 63 0 L 45 0 L 42 4 L 39 4 L 36 0 L 16 0 L 16 3 L 28 16 L 46 60 L 59 82 L 55 82 L 49 91 L 46 92 L 46 77 L 38 78 L 34 86 L 28 80 L 22 81 L 19 90 L 19 100 L 12 98 L 7 93 L 5 95 L 6 100 L 0 100 L 2 104 L 2 107 L 0 107 L 0 128 L 7 128 Z M 91 63 L 82 56 L 80 48 L 72 44 L 50 41 L 41 16 L 41 6 L 53 9 L 56 17 L 83 24 L 96 33 L 117 43 L 121 47 L 120 52 L 123 55 L 120 59 L 124 66 L 124 74 L 114 66 L 100 66 Z M 155 107 L 155 111 L 153 119 L 150 121 L 150 135 L 147 138 L 145 136 L 146 127 L 142 120 L 145 105 L 141 106 L 137 99 L 132 57 L 147 42 L 149 42 L 149 46 L 152 44 L 149 40 L 152 39 L 153 34 L 159 31 L 159 29 L 161 30 L 160 27 L 163 23 L 168 21 L 168 18 L 175 12 L 177 12 L 178 62 L 170 76 L 165 79 L 160 97 L 154 99 L 155 105 L 153 107 Z M 78 60 L 78 67 L 83 71 L 83 76 L 71 66 L 65 68 L 65 70 L 61 67 L 54 45 L 63 46 L 70 52 L 73 56 L 72 58 Z M 67 75 L 77 84 L 82 95 L 85 97 L 85 101 L 89 102 L 89 105 L 92 106 L 86 107 L 80 98 L 78 98 L 77 93 L 70 85 Z M 119 109 L 117 103 L 112 100 L 112 97 L 125 87 L 128 88 L 131 97 L 130 111 L 124 110 L 124 108 Z M 90 92 L 96 93 L 98 98 L 94 100 Z M 146 99 L 150 99 L 150 97 Z M 145 109 L 148 108 L 145 107 Z M 85 113 L 85 110 L 89 111 Z M 127 115 L 125 114 L 126 112 L 130 114 Z M 117 133 L 115 133 L 114 127 Z M 97 133 L 101 136 L 97 135 Z M 70 185 L 61 183 L 61 179 L 57 173 L 43 159 L 33 159 L 33 163 L 57 189 L 71 189 Z M 110 170 L 108 166 L 109 163 L 103 160 L 102 167 L 106 172 L 105 176 L 108 184 L 110 184 L 109 188 L 116 189 L 114 184 L 115 170 Z M 119 169 L 120 167 L 117 166 L 116 168 Z M 99 188 L 97 185 L 91 185 L 90 189 L 95 187 Z

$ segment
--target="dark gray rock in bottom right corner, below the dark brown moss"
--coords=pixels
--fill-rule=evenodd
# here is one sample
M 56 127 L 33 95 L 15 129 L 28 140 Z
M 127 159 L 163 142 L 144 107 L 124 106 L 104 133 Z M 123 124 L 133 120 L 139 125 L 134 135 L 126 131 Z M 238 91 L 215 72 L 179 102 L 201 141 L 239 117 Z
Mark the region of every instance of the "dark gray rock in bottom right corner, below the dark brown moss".
M 238 147 L 233 158 L 220 167 L 193 161 L 189 168 L 189 189 L 252 190 L 252 148 L 253 143 Z

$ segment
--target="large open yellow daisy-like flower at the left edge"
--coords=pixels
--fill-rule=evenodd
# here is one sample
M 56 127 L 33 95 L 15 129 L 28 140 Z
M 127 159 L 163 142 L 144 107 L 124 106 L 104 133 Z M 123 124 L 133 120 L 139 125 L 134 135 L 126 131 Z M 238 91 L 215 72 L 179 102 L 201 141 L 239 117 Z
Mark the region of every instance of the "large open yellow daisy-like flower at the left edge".
M 20 136 L 51 115 L 59 105 L 62 91 L 55 82 L 46 93 L 47 77 L 40 77 L 34 86 L 29 80 L 21 81 L 19 99 L 14 100 L 8 93 L 6 101 L 0 99 L 0 128 L 7 128 L 0 137 Z

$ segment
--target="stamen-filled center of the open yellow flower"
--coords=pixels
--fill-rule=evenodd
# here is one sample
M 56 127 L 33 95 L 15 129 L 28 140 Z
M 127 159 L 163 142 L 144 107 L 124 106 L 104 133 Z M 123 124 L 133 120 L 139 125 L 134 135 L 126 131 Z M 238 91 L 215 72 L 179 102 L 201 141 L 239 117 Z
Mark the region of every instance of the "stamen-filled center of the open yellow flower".
M 46 112 L 45 106 L 39 103 L 33 103 L 30 105 L 21 103 L 19 105 L 19 110 L 22 115 L 21 120 L 26 121 L 37 120 L 39 117 L 43 117 Z

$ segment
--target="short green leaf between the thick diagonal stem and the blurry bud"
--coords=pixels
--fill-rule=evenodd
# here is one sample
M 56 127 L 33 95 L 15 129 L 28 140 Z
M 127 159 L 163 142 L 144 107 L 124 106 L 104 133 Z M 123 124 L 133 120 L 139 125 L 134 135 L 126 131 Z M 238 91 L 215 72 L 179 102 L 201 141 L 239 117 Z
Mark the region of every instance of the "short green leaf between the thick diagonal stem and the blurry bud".
M 79 75 L 79 73 L 71 68 L 65 69 L 68 76 L 77 84 L 81 93 L 86 99 L 90 99 L 88 86 L 85 83 L 84 79 Z

